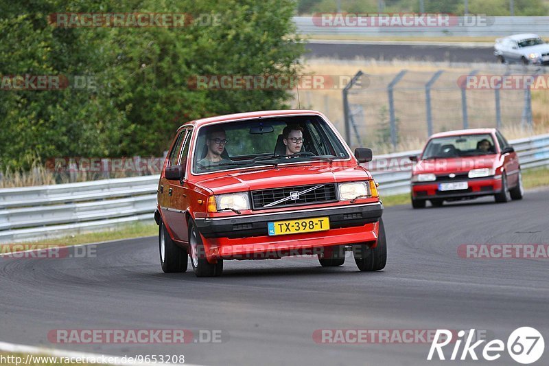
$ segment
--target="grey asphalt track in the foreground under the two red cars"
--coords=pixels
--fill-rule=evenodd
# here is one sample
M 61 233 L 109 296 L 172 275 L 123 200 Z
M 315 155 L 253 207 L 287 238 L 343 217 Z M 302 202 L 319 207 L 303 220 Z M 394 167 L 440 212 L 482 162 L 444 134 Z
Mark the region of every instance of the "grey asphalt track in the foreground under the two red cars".
M 549 243 L 549 190 L 384 211 L 388 265 L 351 258 L 225 262 L 222 277 L 161 273 L 156 238 L 97 245 L 96 258 L 0 258 L 0 341 L 101 354 L 184 354 L 202 365 L 448 365 L 430 344 L 322 344 L 319 329 L 486 330 L 533 326 L 549 343 L 549 260 L 464 259 L 460 244 Z M 190 268 L 190 264 L 189 264 Z M 222 330 L 222 343 L 52 344 L 53 329 Z M 485 343 L 484 343 L 485 344 Z M 452 347 L 452 346 L 451 346 Z M 480 347 L 479 347 L 480 348 Z M 451 349 L 447 350 L 447 357 Z M 482 349 L 477 355 L 482 359 Z M 471 361 L 467 364 L 487 364 Z M 503 353 L 491 365 L 517 365 Z M 535 365 L 548 365 L 549 351 Z

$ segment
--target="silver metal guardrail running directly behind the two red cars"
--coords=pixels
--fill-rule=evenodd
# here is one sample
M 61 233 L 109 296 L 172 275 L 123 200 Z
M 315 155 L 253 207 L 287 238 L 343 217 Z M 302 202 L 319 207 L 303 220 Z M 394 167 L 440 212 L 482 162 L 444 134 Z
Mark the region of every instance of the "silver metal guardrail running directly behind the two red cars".
M 511 141 L 522 168 L 549 165 L 549 134 Z M 410 155 L 419 150 L 379 155 L 387 170 L 371 170 L 383 195 L 410 192 Z M 391 169 L 391 170 L 389 170 Z M 67 233 L 152 222 L 159 176 L 0 190 L 0 242 L 43 240 Z

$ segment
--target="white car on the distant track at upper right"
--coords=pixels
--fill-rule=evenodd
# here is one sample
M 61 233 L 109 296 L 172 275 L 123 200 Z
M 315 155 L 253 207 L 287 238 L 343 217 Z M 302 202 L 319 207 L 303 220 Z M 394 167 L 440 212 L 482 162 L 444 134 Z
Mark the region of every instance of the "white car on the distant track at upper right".
M 549 65 L 549 44 L 537 34 L 514 34 L 498 38 L 493 54 L 502 63 Z

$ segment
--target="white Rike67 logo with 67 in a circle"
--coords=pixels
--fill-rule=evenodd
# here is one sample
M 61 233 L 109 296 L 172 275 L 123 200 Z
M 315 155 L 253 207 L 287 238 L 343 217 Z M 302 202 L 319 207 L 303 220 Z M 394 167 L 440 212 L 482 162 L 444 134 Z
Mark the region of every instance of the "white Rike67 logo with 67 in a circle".
M 482 353 L 482 358 L 484 358 L 484 360 L 495 361 L 502 356 L 502 352 L 504 352 L 506 347 L 507 352 L 509 352 L 509 356 L 511 356 L 513 360 L 517 363 L 528 365 L 539 360 L 545 350 L 544 337 L 541 336 L 541 333 L 535 328 L 530 327 L 515 329 L 507 339 L 506 344 L 500 339 L 494 339 L 493 341 L 486 343 L 484 347 L 479 346 L 486 342 L 485 339 L 481 339 L 480 341 L 473 343 L 473 336 L 475 334 L 474 329 L 471 329 L 469 332 L 460 330 L 457 334 L 457 339 L 452 339 L 453 334 L 453 332 L 445 329 L 436 330 L 434 339 L 431 343 L 431 348 L 429 350 L 429 355 L 427 356 L 428 361 L 433 359 L 435 351 L 439 360 L 444 361 L 446 358 L 443 353 L 443 347 L 449 345 L 450 343 L 454 345 L 452 356 L 449 358 L 449 360 L 452 361 L 465 361 L 469 357 L 471 360 L 476 361 L 478 360 L 477 352 Z M 439 339 L 443 339 L 443 341 L 439 342 Z M 463 350 L 461 350 L 460 354 L 460 347 L 463 341 L 465 341 L 465 344 L 463 345 Z

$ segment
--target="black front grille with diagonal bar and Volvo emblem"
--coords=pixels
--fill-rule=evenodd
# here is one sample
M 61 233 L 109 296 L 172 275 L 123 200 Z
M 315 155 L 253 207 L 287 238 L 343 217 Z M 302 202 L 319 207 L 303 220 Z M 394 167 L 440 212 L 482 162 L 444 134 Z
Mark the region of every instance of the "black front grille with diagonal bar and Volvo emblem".
M 287 201 L 278 203 L 277 205 L 265 207 L 266 205 L 279 201 L 282 198 L 287 198 L 290 196 L 290 192 L 303 192 L 312 187 L 316 190 L 312 190 L 305 194 L 300 194 L 297 199 L 289 199 Z M 325 203 L 325 202 L 334 202 L 337 201 L 336 197 L 336 185 L 331 184 L 316 184 L 316 185 L 299 185 L 295 187 L 283 187 L 283 188 L 274 188 L 272 190 L 258 190 L 252 192 L 252 203 L 254 209 L 269 209 L 277 207 L 287 207 L 287 206 L 299 206 L 299 205 L 310 205 L 312 203 Z

